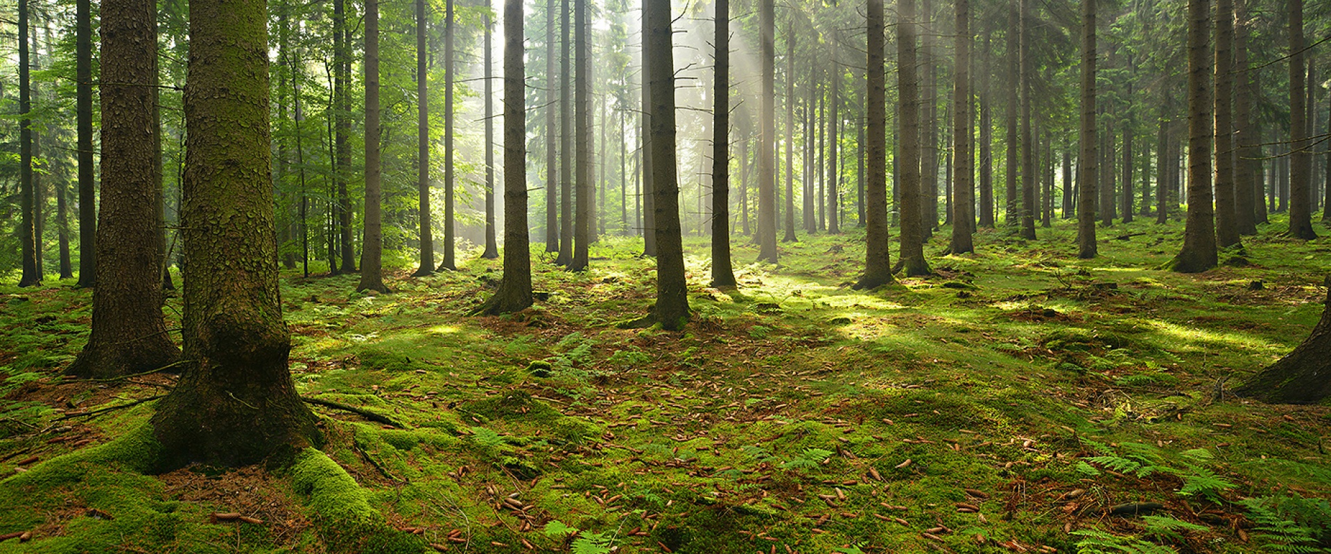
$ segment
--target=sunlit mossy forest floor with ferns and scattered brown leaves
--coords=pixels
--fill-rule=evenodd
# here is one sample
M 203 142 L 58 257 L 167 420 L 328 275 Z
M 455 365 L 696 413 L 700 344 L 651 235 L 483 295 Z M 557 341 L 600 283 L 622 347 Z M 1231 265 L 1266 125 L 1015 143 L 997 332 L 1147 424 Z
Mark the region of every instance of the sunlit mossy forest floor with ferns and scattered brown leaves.
M 941 256 L 945 229 L 926 247 L 936 275 L 873 292 L 849 288 L 860 230 L 783 243 L 780 267 L 753 264 L 756 247 L 736 238 L 737 291 L 707 287 L 707 242 L 689 238 L 695 316 L 681 333 L 616 327 L 655 294 L 636 239 L 594 244 L 584 274 L 538 256 L 546 295 L 512 316 L 465 316 L 500 274 L 475 252 L 457 272 L 397 271 L 391 295 L 295 272 L 282 295 L 301 395 L 401 422 L 313 407 L 327 456 L 422 546 L 1326 547 L 1331 408 L 1223 393 L 1322 312 L 1331 239 L 1280 229 L 1199 275 L 1159 268 L 1182 223 L 1102 227 L 1094 260 L 1074 258 L 1069 222 L 1034 242 L 982 230 L 976 254 Z M 71 283 L 0 287 L 0 476 L 114 440 L 152 403 L 101 409 L 170 387 L 166 375 L 60 377 L 89 302 Z M 173 328 L 178 310 L 170 299 Z M 0 553 L 330 550 L 326 527 L 341 523 L 302 498 L 262 468 L 142 476 L 108 464 L 60 485 L 0 481 L 0 535 L 31 533 Z

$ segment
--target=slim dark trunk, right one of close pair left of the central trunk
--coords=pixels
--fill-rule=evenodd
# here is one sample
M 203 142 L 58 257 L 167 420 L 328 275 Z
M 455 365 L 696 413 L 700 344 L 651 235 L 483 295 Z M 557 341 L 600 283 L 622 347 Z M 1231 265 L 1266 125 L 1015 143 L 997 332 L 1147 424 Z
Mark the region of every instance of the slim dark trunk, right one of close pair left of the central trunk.
M 576 191 L 576 214 L 574 215 L 574 258 L 568 263 L 568 271 L 586 271 L 588 263 L 587 244 L 591 242 L 591 72 L 588 66 L 587 46 L 587 0 L 574 1 L 574 45 L 578 68 L 574 74 L 574 147 L 576 149 L 575 163 L 578 173 L 574 178 Z

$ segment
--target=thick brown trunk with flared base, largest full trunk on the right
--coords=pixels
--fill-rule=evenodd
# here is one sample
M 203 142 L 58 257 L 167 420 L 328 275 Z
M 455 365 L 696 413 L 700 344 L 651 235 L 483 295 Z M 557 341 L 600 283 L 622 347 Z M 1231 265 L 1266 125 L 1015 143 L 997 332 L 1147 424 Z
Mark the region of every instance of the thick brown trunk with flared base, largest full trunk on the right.
M 1187 15 L 1187 222 L 1174 271 L 1215 267 L 1215 214 L 1211 206 L 1210 0 L 1189 0 Z M 1303 195 L 1307 201 L 1307 194 Z

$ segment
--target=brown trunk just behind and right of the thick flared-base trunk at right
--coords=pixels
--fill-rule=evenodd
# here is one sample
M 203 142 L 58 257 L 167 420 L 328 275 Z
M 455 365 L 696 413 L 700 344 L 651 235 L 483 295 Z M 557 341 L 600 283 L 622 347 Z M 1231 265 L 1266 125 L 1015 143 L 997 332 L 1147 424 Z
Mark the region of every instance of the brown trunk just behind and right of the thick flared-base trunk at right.
M 1239 243 L 1234 206 L 1234 0 L 1215 4 L 1215 243 L 1226 248 Z

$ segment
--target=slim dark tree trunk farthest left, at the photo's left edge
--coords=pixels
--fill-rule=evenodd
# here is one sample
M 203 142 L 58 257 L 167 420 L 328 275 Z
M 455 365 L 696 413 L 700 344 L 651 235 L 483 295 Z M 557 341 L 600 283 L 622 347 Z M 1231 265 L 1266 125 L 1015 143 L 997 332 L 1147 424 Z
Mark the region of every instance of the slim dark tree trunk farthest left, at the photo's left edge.
M 19 223 L 20 255 L 23 256 L 23 276 L 20 287 L 41 284 L 37 268 L 37 248 L 41 236 L 37 234 L 37 199 L 32 182 L 32 82 L 28 77 L 28 1 L 19 0 L 19 197 L 23 205 L 23 221 Z

